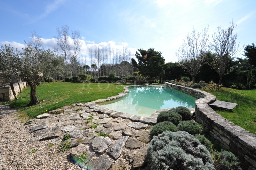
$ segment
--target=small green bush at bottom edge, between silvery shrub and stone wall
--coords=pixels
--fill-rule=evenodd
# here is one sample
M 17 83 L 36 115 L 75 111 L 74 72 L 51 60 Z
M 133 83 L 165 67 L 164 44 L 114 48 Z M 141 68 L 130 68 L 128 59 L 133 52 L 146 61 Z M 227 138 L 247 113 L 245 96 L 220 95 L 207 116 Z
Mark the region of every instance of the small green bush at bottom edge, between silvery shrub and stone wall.
M 229 151 L 216 151 L 212 153 L 213 163 L 216 170 L 241 170 L 238 158 Z

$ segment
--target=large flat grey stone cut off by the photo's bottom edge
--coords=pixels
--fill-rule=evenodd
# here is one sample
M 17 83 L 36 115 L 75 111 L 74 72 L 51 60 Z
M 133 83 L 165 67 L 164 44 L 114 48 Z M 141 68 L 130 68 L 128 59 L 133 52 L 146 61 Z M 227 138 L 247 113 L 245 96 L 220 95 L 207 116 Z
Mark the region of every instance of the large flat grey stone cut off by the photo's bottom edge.
M 111 165 L 111 159 L 109 159 L 107 155 L 102 155 L 100 158 L 96 158 L 94 161 L 90 162 L 88 168 L 93 170 L 108 170 Z

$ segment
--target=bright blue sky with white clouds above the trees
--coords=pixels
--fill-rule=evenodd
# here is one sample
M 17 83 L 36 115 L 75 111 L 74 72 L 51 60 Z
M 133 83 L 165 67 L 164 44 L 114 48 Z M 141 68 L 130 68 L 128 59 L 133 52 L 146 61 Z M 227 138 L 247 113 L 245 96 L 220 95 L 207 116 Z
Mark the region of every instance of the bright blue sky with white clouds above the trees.
M 176 62 L 175 52 L 193 28 L 201 32 L 209 25 L 212 40 L 217 27 L 228 27 L 233 19 L 237 43 L 255 43 L 255 7 L 255 0 L 0 0 L 0 45 L 20 50 L 36 31 L 54 48 L 56 28 L 68 25 L 70 34 L 80 31 L 83 57 L 92 44 L 123 43 L 132 53 L 152 47 L 165 62 Z

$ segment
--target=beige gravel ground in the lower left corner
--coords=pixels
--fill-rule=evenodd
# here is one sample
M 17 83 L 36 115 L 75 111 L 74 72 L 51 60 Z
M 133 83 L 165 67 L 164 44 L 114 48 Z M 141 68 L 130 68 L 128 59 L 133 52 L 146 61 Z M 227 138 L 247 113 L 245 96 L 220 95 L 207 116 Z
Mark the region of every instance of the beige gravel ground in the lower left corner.
M 72 161 L 70 152 L 60 152 L 54 141 L 36 141 L 15 116 L 16 110 L 0 105 L 0 169 L 82 169 Z M 35 153 L 29 153 L 32 150 Z

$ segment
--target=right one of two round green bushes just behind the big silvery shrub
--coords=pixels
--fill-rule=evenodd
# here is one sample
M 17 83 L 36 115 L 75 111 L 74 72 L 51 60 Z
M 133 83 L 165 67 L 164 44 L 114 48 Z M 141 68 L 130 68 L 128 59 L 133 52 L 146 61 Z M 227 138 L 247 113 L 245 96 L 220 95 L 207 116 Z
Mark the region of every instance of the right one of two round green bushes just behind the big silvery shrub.
M 181 121 L 177 128 L 178 130 L 186 131 L 191 135 L 201 134 L 203 131 L 202 125 L 193 120 Z

